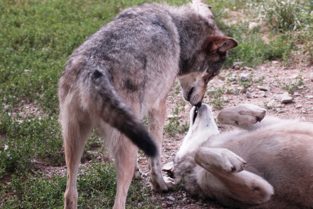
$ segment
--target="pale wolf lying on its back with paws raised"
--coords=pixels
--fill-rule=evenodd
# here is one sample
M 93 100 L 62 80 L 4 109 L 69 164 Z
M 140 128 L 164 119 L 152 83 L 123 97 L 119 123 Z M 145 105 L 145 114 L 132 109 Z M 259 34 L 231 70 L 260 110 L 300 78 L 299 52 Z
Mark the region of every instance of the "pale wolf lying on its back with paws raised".
M 174 167 L 163 169 L 183 177 L 191 195 L 228 207 L 312 209 L 313 124 L 265 114 L 247 104 L 224 109 L 218 120 L 246 131 L 219 134 L 209 106 L 193 107 Z

